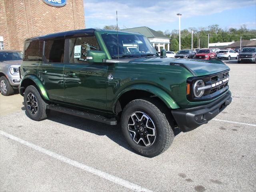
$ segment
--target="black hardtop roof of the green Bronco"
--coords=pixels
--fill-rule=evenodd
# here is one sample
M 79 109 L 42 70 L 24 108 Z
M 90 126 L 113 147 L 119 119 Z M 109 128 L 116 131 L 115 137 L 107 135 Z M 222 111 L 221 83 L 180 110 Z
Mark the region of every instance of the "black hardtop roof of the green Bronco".
M 58 33 L 51 33 L 47 35 L 42 35 L 42 36 L 37 36 L 33 38 L 28 38 L 26 41 L 30 40 L 40 40 L 40 39 L 54 39 L 54 38 L 67 38 L 67 37 L 77 37 L 77 36 L 84 36 L 84 35 L 94 35 L 95 30 L 97 31 L 102 31 L 102 32 L 116 32 L 116 30 L 102 30 L 102 29 L 79 29 L 79 30 L 73 30 L 73 31 L 65 31 L 65 32 L 58 32 Z M 118 33 L 120 34 L 139 34 L 136 32 L 124 32 L 124 31 L 119 31 Z

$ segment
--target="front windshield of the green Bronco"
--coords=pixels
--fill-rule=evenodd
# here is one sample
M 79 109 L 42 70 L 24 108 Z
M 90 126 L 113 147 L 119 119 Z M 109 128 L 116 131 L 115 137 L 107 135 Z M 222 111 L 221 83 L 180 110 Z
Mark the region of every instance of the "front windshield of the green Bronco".
M 149 40 L 142 35 L 118 34 L 118 48 L 117 34 L 102 34 L 102 38 L 112 58 L 118 56 L 118 48 L 120 57 L 126 55 L 138 57 L 144 54 L 157 54 L 156 49 Z

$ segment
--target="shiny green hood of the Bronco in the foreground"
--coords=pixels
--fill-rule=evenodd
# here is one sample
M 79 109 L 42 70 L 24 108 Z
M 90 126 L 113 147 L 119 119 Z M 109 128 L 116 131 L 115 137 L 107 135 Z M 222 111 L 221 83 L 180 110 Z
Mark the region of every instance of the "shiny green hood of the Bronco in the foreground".
M 187 68 L 194 76 L 211 75 L 229 70 L 229 67 L 218 59 L 196 60 L 155 57 L 130 60 L 129 63 L 181 66 Z

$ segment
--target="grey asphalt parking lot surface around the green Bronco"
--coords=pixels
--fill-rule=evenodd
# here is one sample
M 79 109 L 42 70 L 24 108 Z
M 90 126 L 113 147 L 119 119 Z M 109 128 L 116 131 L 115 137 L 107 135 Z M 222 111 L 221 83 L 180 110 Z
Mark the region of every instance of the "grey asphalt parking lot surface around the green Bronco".
M 120 126 L 51 112 L 30 120 L 0 96 L 0 191 L 256 190 L 256 64 L 230 67 L 232 103 L 160 156 L 136 154 Z

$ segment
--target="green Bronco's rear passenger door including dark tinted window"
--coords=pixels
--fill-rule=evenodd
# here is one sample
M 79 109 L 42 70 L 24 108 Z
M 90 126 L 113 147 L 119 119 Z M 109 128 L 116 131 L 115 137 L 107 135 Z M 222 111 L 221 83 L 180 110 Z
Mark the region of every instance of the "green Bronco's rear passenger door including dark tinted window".
M 38 67 L 38 76 L 50 100 L 63 100 L 64 44 L 64 39 L 44 41 L 43 62 Z

